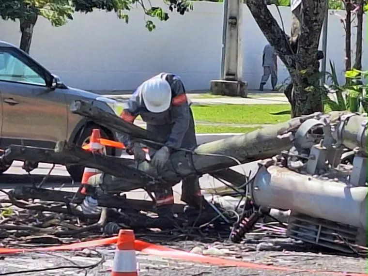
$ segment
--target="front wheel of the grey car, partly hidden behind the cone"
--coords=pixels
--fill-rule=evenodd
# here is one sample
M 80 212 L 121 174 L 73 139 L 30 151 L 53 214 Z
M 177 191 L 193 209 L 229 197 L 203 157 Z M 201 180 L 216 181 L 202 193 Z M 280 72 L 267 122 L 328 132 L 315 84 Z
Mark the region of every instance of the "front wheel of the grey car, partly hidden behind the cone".
M 105 139 L 111 139 L 112 138 L 112 137 L 109 137 L 107 135 L 106 131 L 104 131 L 101 126 L 98 126 L 96 124 L 92 124 L 92 125 L 88 125 L 84 129 L 82 129 L 83 132 L 80 135 L 77 135 L 75 144 L 77 146 L 81 146 L 81 147 L 88 144 L 90 142 L 90 137 L 91 137 L 91 134 L 92 134 L 92 130 L 95 129 L 95 128 L 98 128 L 100 130 L 101 138 L 105 138 Z M 115 155 L 115 151 L 112 148 L 105 148 L 105 152 L 106 152 L 107 155 Z M 66 169 L 68 170 L 70 176 L 72 177 L 72 179 L 75 182 L 81 182 L 84 167 L 69 166 Z

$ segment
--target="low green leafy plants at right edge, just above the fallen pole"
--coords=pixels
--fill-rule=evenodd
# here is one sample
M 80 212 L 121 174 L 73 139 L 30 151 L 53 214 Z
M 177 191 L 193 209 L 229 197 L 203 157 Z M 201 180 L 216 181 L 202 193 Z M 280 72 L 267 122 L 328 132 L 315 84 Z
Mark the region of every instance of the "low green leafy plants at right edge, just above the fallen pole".
M 324 84 L 322 103 L 325 112 L 349 110 L 352 112 L 367 112 L 367 85 L 363 85 L 363 79 L 368 78 L 367 71 L 356 69 L 347 71 L 345 77 L 351 78 L 350 84 L 340 85 L 337 80 L 335 64 L 330 61 L 331 73 L 327 76 L 332 84 Z M 333 98 L 333 99 L 332 99 Z M 360 108 L 360 104 L 362 108 Z

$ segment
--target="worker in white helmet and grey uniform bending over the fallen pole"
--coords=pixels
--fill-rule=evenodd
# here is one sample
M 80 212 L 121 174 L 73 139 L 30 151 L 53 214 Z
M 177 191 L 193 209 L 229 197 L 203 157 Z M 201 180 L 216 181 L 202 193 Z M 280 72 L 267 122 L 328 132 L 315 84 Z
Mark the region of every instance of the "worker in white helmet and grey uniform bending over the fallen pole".
M 166 141 L 158 151 L 150 149 L 151 164 L 158 171 L 164 168 L 173 148 L 193 149 L 197 146 L 193 114 L 180 77 L 161 73 L 143 82 L 130 97 L 120 117 L 133 123 L 138 115 L 147 123 L 147 130 Z M 134 152 L 136 161 L 145 160 L 144 145 L 130 142 L 128 137 L 124 137 L 123 142 L 128 153 Z M 184 179 L 182 187 L 182 201 L 195 208 L 203 206 L 197 176 Z M 172 188 L 156 191 L 155 199 L 157 207 L 170 209 L 174 203 Z

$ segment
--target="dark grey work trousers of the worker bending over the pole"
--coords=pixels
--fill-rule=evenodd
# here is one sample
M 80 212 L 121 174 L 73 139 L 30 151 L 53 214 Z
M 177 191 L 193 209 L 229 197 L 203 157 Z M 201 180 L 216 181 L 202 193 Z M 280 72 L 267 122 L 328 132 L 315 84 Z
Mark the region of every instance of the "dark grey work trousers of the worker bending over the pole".
M 197 146 L 197 138 L 196 138 L 196 131 L 194 126 L 194 119 L 192 110 L 189 108 L 190 112 L 190 121 L 189 127 L 184 135 L 184 139 L 181 145 L 181 148 L 184 149 L 193 149 Z M 147 123 L 147 130 L 153 132 L 157 137 L 160 137 L 164 140 L 169 138 L 171 133 L 172 124 L 165 124 L 165 125 L 154 125 Z M 153 156 L 154 150 L 150 149 L 150 156 Z M 174 196 L 172 188 L 168 189 L 161 189 L 154 193 L 156 199 L 156 205 L 164 206 L 174 203 Z M 181 200 L 187 203 L 188 205 L 192 202 L 196 202 L 200 196 L 200 187 L 199 187 L 199 177 L 196 175 L 188 176 L 182 182 L 182 197 Z

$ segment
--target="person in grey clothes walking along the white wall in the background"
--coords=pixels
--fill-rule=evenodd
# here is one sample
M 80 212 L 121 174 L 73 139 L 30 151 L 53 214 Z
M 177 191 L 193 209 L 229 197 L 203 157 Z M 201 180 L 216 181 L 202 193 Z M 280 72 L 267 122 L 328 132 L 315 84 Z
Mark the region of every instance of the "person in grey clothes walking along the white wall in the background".
M 277 84 L 277 56 L 275 49 L 271 44 L 267 44 L 263 48 L 262 55 L 263 76 L 260 84 L 260 91 L 263 91 L 263 86 L 267 83 L 271 75 L 272 90 L 275 91 Z

